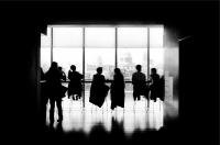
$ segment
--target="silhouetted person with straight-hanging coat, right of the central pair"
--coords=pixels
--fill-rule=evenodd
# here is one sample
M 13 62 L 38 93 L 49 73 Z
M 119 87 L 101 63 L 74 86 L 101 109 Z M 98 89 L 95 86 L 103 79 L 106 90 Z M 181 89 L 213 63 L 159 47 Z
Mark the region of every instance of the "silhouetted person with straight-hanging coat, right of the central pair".
M 113 81 L 111 83 L 111 109 L 124 108 L 124 77 L 119 68 L 114 69 Z

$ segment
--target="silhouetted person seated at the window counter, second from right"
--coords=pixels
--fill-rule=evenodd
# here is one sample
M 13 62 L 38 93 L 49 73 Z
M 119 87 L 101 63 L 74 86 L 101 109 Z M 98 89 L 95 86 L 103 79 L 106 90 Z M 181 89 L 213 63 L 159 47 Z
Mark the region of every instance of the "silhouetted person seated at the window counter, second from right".
M 147 98 L 146 76 L 141 72 L 141 65 L 136 65 L 136 72 L 132 75 L 133 99 L 141 99 L 141 96 Z

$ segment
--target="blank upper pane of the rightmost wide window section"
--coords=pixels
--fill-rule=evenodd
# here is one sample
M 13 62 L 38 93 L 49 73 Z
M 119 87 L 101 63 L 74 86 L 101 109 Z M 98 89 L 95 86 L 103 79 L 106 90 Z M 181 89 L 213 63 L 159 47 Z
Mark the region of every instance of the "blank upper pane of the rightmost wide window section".
M 119 27 L 118 47 L 145 48 L 147 47 L 146 27 Z

